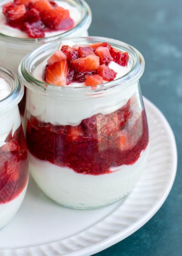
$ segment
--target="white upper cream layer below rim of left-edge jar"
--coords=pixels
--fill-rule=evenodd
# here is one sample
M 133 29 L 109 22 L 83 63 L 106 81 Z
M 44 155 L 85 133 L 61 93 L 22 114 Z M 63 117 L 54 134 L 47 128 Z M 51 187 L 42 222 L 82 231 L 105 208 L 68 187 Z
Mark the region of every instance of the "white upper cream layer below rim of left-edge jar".
M 5 139 L 12 130 L 12 135 L 21 124 L 20 112 L 18 106 L 0 116 L 0 147 L 5 144 Z

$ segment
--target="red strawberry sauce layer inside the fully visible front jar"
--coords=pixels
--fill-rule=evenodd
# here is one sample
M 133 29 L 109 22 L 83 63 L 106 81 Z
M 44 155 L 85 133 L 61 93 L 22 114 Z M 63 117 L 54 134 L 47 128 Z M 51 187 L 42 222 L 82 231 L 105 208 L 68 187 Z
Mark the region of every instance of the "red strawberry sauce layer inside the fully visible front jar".
M 32 155 L 82 174 L 109 173 L 110 167 L 132 165 L 148 144 L 147 117 L 135 115 L 130 101 L 111 114 L 96 114 L 78 126 L 58 126 L 31 116 L 26 141 Z

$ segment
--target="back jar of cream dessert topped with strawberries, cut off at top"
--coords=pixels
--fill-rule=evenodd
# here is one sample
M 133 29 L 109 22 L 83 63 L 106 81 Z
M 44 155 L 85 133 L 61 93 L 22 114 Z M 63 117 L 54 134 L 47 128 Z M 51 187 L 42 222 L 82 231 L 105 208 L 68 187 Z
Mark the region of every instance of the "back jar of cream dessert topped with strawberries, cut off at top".
M 28 52 L 56 39 L 85 36 L 90 24 L 84 0 L 1 0 L 1 65 L 17 73 Z

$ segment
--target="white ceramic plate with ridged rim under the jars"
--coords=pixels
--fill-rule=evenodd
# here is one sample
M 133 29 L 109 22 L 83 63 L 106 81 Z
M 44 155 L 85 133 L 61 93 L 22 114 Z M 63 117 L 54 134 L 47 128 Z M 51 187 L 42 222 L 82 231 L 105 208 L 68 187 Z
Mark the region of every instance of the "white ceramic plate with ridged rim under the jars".
M 25 200 L 0 230 L 0 256 L 88 256 L 141 228 L 162 206 L 177 170 L 172 130 L 162 113 L 144 99 L 150 132 L 146 169 L 123 200 L 94 210 L 64 208 L 30 178 Z

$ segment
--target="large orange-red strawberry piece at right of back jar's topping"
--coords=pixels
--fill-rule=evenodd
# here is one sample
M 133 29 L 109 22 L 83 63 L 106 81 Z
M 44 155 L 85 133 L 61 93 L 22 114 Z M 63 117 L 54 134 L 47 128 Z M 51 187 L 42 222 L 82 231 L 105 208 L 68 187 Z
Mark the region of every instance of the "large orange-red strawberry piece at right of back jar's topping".
M 74 26 L 74 21 L 71 19 L 69 11 L 61 6 L 46 11 L 44 16 L 41 16 L 41 19 L 46 27 L 55 30 L 68 30 Z

